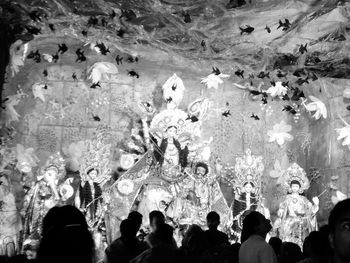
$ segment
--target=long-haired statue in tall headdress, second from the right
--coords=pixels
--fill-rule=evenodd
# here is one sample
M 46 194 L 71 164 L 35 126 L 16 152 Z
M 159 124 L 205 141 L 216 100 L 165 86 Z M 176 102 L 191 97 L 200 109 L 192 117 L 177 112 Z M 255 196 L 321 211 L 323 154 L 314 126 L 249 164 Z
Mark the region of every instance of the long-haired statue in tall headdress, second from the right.
M 235 177 L 232 180 L 235 200 L 232 204 L 233 234 L 239 240 L 242 223 L 249 211 L 259 211 L 269 217 L 261 198 L 261 177 L 264 171 L 261 156 L 254 156 L 247 149 L 243 157 L 236 158 Z

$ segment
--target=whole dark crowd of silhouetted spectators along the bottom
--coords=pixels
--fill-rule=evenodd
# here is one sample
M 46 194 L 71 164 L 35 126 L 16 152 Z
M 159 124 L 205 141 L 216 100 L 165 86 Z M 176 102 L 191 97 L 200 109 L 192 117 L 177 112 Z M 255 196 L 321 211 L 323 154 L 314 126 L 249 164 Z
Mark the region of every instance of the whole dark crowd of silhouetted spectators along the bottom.
M 335 205 L 328 224 L 311 232 L 303 247 L 282 242 L 278 237 L 266 241 L 272 226 L 261 213 L 252 211 L 243 220 L 241 243 L 230 244 L 218 230 L 220 216 L 208 213 L 207 230 L 198 225 L 181 229 L 181 246 L 174 239 L 174 228 L 162 212 L 149 214 L 151 231 L 138 235 L 142 215 L 132 211 L 120 224 L 120 237 L 105 250 L 104 263 L 349 263 L 350 199 Z M 95 263 L 94 239 L 84 215 L 74 206 L 54 207 L 42 223 L 41 241 L 32 253 L 1 257 L 1 262 Z M 26 251 L 26 249 L 24 249 Z M 33 251 L 37 253 L 33 254 Z

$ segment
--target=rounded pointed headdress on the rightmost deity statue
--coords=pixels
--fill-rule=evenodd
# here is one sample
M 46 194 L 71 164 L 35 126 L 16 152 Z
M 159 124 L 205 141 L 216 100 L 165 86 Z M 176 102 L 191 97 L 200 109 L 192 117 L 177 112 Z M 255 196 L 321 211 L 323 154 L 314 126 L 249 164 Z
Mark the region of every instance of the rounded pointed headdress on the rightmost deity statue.
M 297 163 L 293 163 L 291 166 L 289 166 L 282 176 L 284 178 L 283 185 L 287 190 L 290 189 L 290 184 L 292 181 L 299 182 L 300 193 L 304 192 L 310 187 L 310 182 L 304 169 Z

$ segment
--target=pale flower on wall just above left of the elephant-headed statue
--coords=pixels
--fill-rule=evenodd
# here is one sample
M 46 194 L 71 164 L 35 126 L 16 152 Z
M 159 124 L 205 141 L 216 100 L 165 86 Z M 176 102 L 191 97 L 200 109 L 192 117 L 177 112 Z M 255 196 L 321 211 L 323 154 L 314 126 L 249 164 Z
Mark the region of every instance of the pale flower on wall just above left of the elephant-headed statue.
M 31 172 L 32 168 L 37 166 L 39 162 L 38 157 L 34 154 L 34 149 L 25 149 L 22 144 L 16 146 L 16 159 L 16 168 L 23 173 Z

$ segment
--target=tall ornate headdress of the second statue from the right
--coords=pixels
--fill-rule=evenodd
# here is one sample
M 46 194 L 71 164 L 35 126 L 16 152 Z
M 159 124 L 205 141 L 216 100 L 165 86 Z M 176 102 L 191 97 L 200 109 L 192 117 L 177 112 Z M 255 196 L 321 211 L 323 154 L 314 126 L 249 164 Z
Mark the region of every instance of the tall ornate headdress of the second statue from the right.
M 256 157 L 247 149 L 243 157 L 236 158 L 234 185 L 243 187 L 246 183 L 252 183 L 260 187 L 263 171 L 262 156 Z

